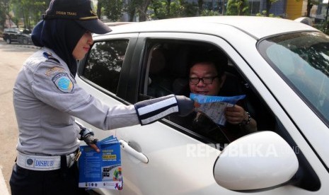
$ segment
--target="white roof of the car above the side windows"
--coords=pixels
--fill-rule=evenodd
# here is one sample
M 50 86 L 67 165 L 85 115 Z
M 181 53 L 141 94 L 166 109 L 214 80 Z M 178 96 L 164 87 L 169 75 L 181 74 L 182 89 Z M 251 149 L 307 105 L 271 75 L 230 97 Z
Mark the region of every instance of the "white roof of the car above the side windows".
M 216 35 L 219 30 L 231 26 L 246 32 L 256 40 L 286 32 L 319 31 L 304 23 L 282 18 L 260 16 L 200 16 L 190 18 L 171 18 L 129 23 L 111 27 L 112 32 L 195 32 Z

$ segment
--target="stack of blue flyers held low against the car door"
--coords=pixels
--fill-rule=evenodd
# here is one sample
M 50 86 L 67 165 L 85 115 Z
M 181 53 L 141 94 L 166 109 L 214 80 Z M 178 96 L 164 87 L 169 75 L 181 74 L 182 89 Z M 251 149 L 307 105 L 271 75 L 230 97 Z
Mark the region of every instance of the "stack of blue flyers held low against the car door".
M 98 141 L 100 153 L 90 146 L 80 146 L 79 187 L 122 189 L 120 143 L 109 136 Z

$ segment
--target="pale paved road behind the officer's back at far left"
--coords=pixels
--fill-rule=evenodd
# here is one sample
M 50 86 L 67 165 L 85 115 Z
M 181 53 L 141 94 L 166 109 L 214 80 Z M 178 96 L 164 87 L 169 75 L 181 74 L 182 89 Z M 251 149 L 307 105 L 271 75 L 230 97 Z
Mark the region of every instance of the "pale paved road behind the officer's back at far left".
M 31 48 L 28 48 L 31 47 Z M 35 47 L 33 47 L 35 48 Z M 13 112 L 13 84 L 23 61 L 37 48 L 32 46 L 6 45 L 0 39 L 0 194 L 10 194 L 8 185 L 11 167 L 16 158 L 18 129 Z M 3 175 L 3 177 L 1 176 Z M 7 187 L 7 189 L 6 189 Z M 6 192 L 8 191 L 8 193 Z

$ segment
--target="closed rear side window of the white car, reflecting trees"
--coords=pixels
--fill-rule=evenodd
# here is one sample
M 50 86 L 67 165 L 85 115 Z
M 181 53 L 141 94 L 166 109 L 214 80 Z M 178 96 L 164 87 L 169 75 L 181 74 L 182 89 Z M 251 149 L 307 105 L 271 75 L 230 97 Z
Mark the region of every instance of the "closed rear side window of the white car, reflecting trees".
M 129 40 L 95 42 L 86 59 L 82 75 L 100 87 L 117 93 L 128 42 Z

